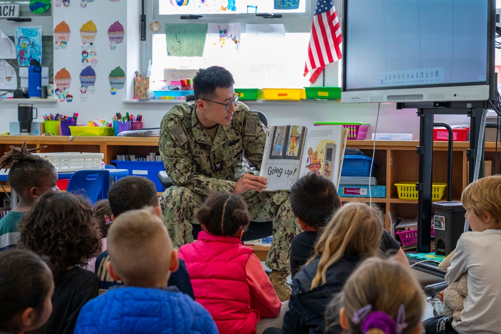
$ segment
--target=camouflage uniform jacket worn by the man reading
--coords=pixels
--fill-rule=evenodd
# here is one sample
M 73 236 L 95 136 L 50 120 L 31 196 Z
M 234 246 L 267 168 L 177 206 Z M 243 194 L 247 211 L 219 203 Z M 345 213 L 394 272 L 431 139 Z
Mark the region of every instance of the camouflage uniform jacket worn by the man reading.
M 235 189 L 235 182 L 259 168 L 266 128 L 256 113 L 241 102 L 229 126 L 219 125 L 214 140 L 198 121 L 196 102 L 180 103 L 162 119 L 158 148 L 171 181 L 197 194 Z M 245 157 L 244 157 L 245 151 Z

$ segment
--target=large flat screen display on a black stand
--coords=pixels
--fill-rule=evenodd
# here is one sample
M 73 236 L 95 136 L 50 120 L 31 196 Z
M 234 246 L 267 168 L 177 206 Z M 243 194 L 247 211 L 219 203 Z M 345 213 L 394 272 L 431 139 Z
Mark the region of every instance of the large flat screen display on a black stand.
M 344 0 L 342 102 L 487 100 L 494 0 Z

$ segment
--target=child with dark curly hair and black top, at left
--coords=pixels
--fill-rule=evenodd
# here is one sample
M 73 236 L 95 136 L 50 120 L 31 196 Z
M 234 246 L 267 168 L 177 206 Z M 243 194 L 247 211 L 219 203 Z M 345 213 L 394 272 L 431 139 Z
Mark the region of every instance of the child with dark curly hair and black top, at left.
M 47 261 L 54 275 L 53 312 L 37 333 L 73 333 L 80 308 L 97 296 L 99 279 L 83 269 L 101 250 L 92 207 L 71 193 L 43 194 L 21 220 L 20 246 Z

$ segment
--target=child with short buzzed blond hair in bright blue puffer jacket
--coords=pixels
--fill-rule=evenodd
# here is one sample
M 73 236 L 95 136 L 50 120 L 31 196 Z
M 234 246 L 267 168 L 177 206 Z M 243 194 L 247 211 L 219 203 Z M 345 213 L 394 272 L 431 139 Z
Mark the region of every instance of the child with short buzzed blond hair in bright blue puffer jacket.
M 125 285 L 87 302 L 75 334 L 215 334 L 209 312 L 176 287 L 167 286 L 178 256 L 152 207 L 129 210 L 108 232 L 110 275 Z

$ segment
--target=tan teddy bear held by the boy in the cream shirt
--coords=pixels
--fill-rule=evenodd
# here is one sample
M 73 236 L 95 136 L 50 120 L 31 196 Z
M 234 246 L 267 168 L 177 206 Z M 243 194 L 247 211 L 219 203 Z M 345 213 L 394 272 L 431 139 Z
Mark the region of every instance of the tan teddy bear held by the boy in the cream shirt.
M 450 260 L 454 256 L 455 252 L 452 251 L 443 261 L 438 265 L 438 269 L 443 272 L 447 272 L 447 268 L 450 266 Z M 463 300 L 468 294 L 467 287 L 467 274 L 464 273 L 455 282 L 449 284 L 449 286 L 444 290 L 444 304 L 445 304 L 445 314 L 449 318 L 453 318 L 456 321 L 461 321 L 461 311 L 463 309 Z

